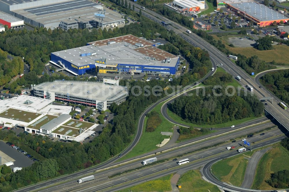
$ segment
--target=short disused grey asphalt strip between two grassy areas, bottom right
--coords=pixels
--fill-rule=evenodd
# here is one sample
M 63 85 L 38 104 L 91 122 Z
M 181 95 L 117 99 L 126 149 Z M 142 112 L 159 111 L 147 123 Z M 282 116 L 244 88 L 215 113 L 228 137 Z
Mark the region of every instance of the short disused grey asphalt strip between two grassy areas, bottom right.
M 251 189 L 251 186 L 253 184 L 253 179 L 255 178 L 256 168 L 257 165 L 261 159 L 261 157 L 269 150 L 270 148 L 265 148 L 260 151 L 257 151 L 254 153 L 251 158 L 249 159 L 248 165 L 246 167 L 244 180 L 242 182 L 241 187 L 245 189 Z

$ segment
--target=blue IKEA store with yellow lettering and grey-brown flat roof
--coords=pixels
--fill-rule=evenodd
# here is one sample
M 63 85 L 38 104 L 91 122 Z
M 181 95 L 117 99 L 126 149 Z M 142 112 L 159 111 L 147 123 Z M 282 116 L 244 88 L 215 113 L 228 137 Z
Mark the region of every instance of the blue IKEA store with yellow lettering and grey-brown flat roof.
M 87 46 L 51 53 L 51 61 L 67 71 L 175 74 L 179 57 L 133 35 L 90 42 Z

